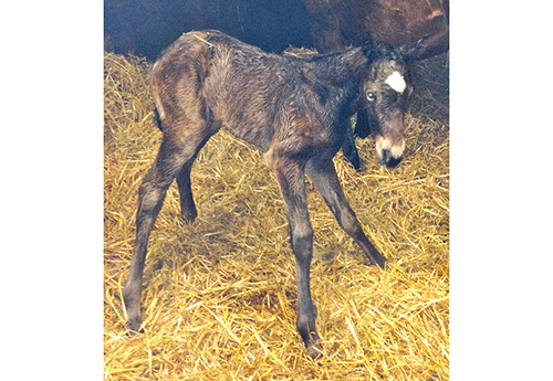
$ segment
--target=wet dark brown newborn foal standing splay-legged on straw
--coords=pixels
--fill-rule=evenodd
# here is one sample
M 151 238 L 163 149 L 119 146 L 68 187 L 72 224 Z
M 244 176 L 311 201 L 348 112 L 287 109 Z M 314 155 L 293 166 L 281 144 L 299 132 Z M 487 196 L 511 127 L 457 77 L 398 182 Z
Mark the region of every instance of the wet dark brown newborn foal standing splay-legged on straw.
M 296 260 L 298 330 L 315 357 L 319 336 L 310 293 L 313 230 L 305 173 L 341 226 L 371 264 L 385 257 L 363 232 L 344 198 L 332 158 L 343 145 L 348 118 L 368 107 L 379 120 L 380 162 L 403 158 L 404 114 L 410 86 L 404 57 L 416 47 L 368 42 L 340 54 L 299 60 L 268 54 L 218 31 L 189 32 L 155 64 L 152 89 L 163 130 L 159 154 L 139 189 L 136 242 L 124 298 L 128 328 L 142 324 L 140 287 L 149 233 L 170 183 L 177 179 L 181 215 L 196 219 L 190 170 L 199 150 L 221 127 L 262 152 L 285 201 Z

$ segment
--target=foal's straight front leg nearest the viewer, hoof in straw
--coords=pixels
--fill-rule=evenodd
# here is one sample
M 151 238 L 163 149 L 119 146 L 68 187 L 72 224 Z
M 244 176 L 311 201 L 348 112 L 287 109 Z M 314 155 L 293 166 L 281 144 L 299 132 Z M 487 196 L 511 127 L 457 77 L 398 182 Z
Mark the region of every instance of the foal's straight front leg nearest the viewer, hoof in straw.
M 274 170 L 286 207 L 298 283 L 298 331 L 311 358 L 321 353 L 315 329 L 315 310 L 310 290 L 310 266 L 313 256 L 313 229 L 307 211 L 305 176 L 301 163 L 279 159 Z

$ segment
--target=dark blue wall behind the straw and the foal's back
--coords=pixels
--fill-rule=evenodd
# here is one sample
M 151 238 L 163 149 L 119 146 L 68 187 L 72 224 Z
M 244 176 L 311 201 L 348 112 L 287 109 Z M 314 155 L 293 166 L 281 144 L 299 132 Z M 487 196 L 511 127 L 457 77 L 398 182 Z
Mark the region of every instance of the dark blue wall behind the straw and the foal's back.
M 300 0 L 105 0 L 105 49 L 156 60 L 180 34 L 218 29 L 264 51 L 313 46 Z

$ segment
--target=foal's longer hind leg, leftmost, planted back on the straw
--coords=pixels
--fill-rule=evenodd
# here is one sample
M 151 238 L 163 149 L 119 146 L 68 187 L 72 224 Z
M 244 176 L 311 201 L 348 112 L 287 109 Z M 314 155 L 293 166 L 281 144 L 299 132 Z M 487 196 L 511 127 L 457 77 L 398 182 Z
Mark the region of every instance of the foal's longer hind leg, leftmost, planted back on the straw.
M 197 152 L 209 138 L 207 130 L 204 128 L 191 130 L 191 133 L 194 134 L 178 139 L 167 134 L 164 135 L 156 161 L 146 174 L 138 191 L 136 242 L 128 279 L 123 293 L 128 316 L 127 327 L 131 330 L 138 330 L 142 324 L 140 290 L 148 237 L 161 209 L 167 189 L 177 177 L 177 173 L 184 171 L 184 166 L 191 167 Z M 182 181 L 180 183 L 185 184 Z M 191 199 L 191 193 L 189 197 Z

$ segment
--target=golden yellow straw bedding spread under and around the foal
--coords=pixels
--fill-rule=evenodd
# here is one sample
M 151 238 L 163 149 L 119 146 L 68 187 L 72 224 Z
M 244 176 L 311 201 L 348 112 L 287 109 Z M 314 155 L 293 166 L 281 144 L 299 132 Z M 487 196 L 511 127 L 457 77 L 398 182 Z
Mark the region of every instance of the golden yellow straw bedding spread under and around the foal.
M 335 158 L 352 208 L 388 258 L 385 271 L 367 265 L 309 186 L 324 348 L 313 361 L 295 330 L 294 260 L 278 184 L 260 155 L 225 131 L 192 169 L 194 224 L 181 222 L 176 184 L 169 189 L 146 260 L 144 332 L 127 335 L 122 289 L 137 190 L 160 133 L 152 64 L 104 59 L 106 380 L 449 380 L 449 126 L 431 117 L 447 99 L 417 96 L 406 119 L 408 152 L 395 170 L 377 163 L 371 139 L 357 141 L 363 172 Z M 447 91 L 447 82 L 437 85 Z

